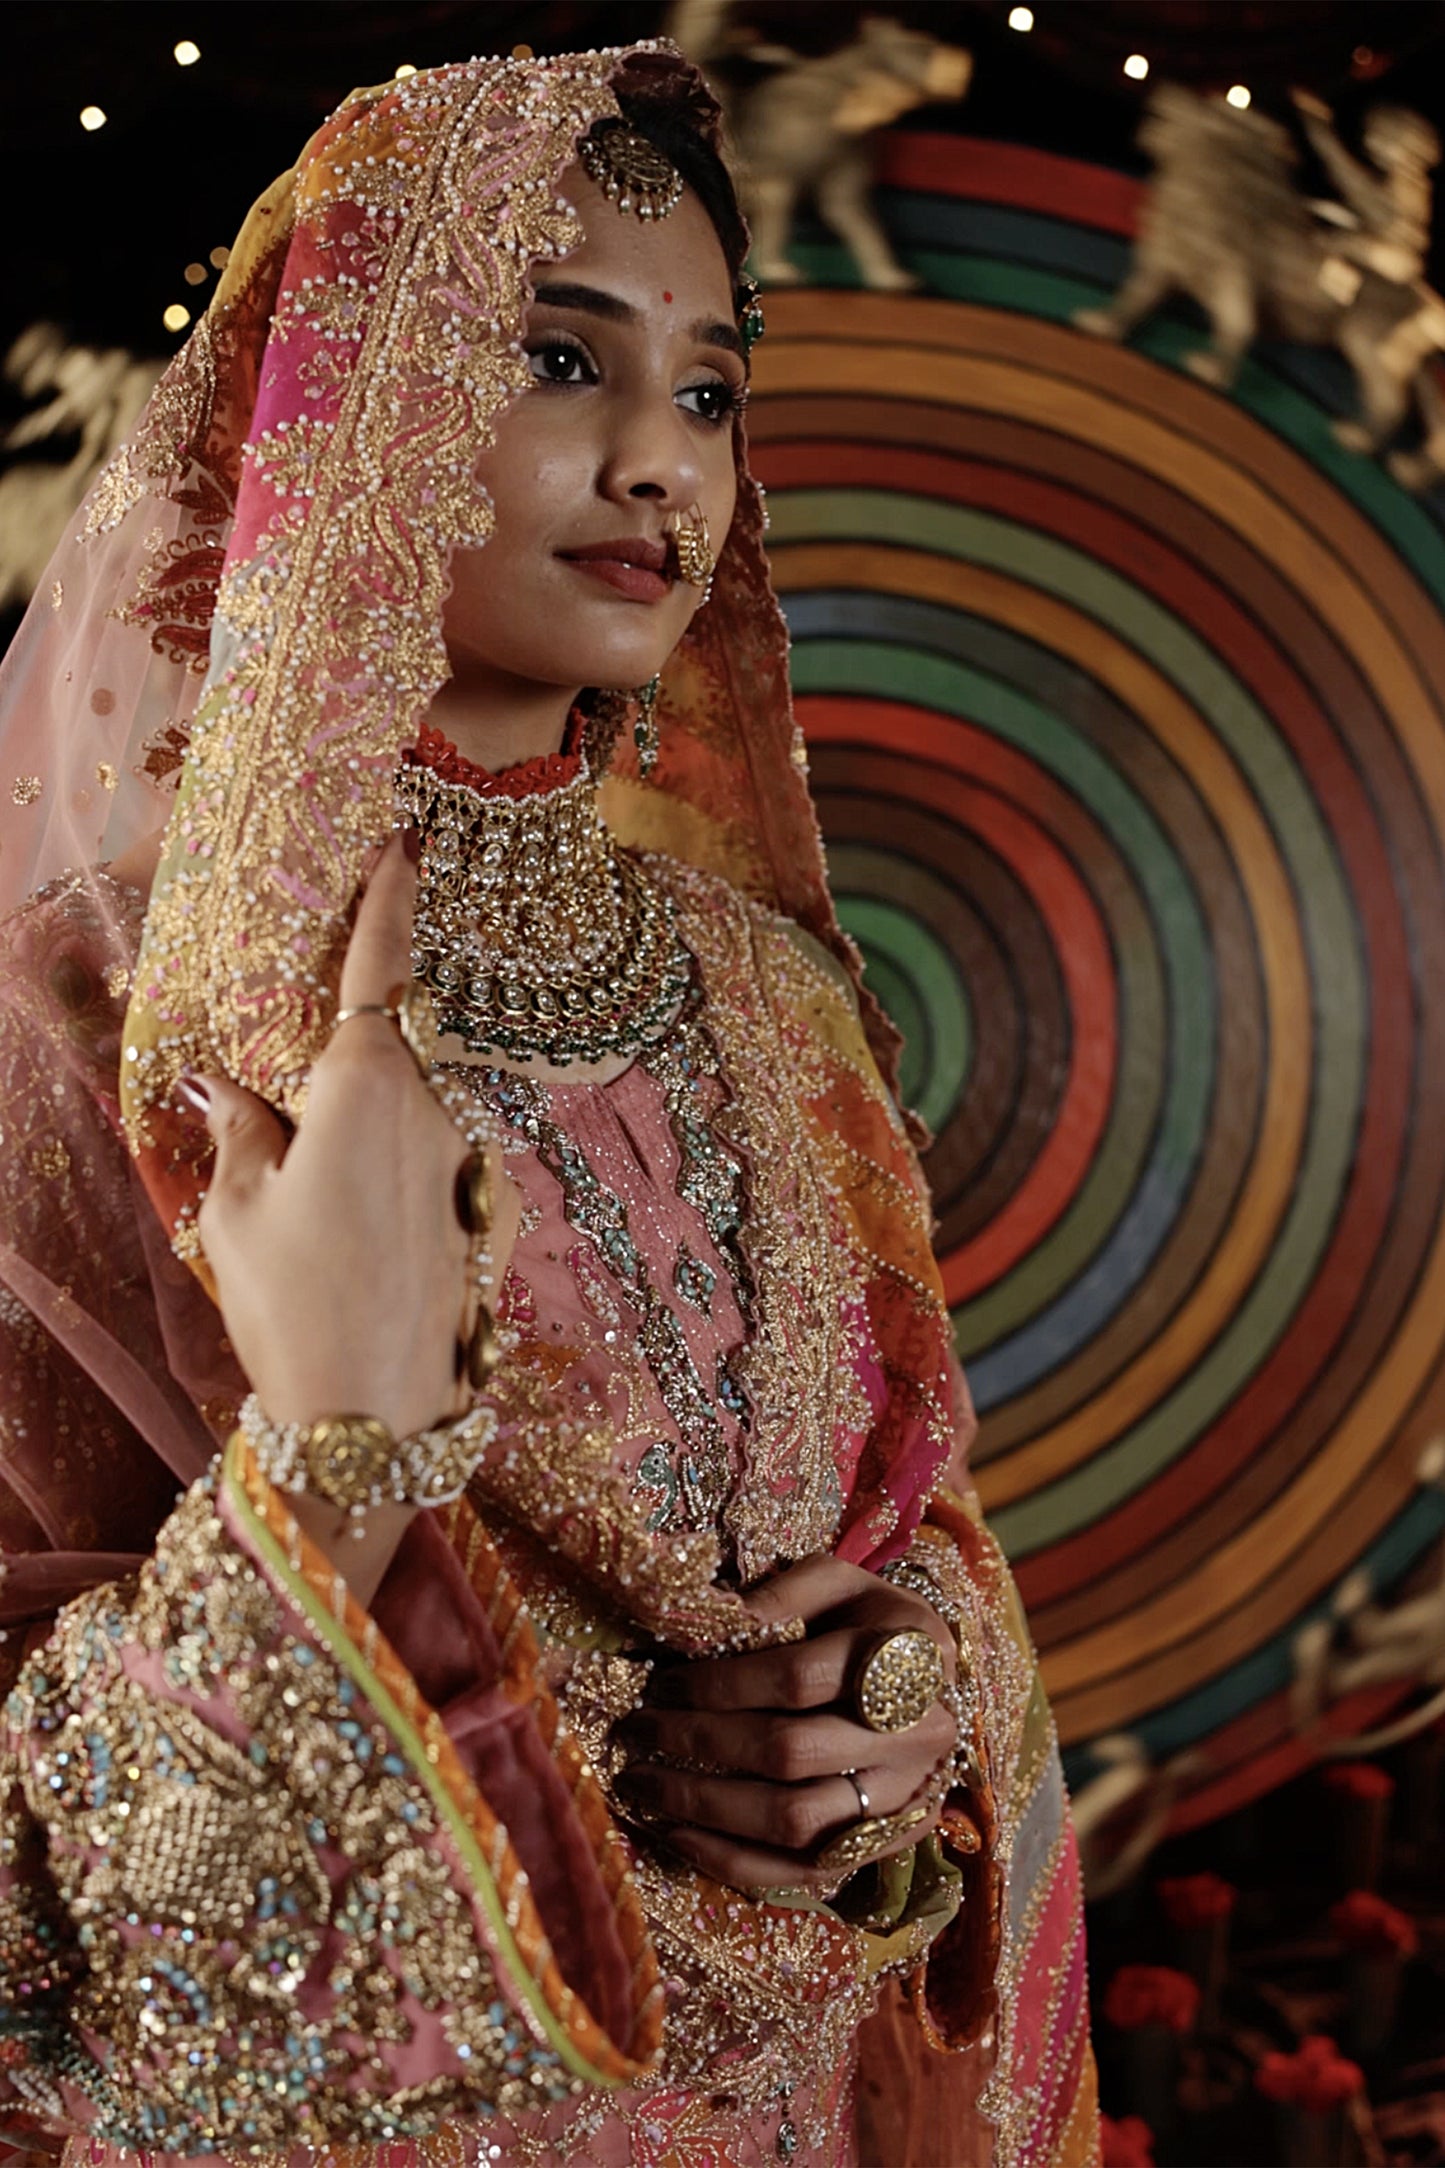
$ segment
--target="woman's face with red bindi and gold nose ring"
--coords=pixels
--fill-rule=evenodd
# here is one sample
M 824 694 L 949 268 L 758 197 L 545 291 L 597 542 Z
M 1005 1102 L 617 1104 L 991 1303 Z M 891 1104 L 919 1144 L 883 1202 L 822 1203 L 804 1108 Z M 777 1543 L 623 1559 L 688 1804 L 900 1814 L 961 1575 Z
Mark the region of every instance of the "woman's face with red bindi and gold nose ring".
M 700 603 L 667 527 L 700 505 L 717 553 L 737 499 L 747 371 L 706 210 L 685 191 L 665 219 L 617 212 L 581 167 L 563 193 L 585 241 L 537 264 L 533 386 L 477 468 L 496 529 L 453 557 L 442 620 L 457 683 L 479 692 L 646 683 Z

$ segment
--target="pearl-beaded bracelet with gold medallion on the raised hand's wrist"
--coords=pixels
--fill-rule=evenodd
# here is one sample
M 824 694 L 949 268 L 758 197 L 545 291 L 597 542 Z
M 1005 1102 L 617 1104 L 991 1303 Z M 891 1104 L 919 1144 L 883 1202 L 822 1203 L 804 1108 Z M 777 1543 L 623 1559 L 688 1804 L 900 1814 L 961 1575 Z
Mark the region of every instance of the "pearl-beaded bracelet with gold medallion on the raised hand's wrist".
M 451 1422 L 392 1437 L 375 1416 L 277 1424 L 251 1392 L 240 1403 L 240 1435 L 269 1483 L 344 1507 L 360 1539 L 370 1507 L 459 1498 L 496 1437 L 496 1409 L 477 1401 Z

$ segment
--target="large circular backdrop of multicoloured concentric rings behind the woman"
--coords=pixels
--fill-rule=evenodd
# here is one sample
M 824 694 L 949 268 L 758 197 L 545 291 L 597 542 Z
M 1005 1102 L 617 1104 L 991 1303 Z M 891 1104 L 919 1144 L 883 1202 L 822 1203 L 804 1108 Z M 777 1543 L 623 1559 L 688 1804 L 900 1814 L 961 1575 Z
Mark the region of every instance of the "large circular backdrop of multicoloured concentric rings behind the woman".
M 1445 540 L 1326 360 L 1222 397 L 1181 321 L 1072 330 L 1133 182 L 886 160 L 919 293 L 804 241 L 756 351 L 797 711 L 1072 1776 L 1205 1747 L 1187 1823 L 1306 1758 L 1293 1635 L 1445 1526 Z

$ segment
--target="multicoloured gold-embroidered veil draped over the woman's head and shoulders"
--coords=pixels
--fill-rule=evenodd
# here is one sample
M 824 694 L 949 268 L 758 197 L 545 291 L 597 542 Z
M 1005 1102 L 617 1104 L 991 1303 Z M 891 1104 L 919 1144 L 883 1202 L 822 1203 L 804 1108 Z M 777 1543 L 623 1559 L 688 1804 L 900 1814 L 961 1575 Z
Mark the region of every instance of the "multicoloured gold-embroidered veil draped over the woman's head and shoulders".
M 526 384 L 529 273 L 565 256 L 576 225 L 561 176 L 620 91 L 685 104 L 717 130 L 700 78 L 661 46 L 474 61 L 347 100 L 251 210 L 212 308 L 61 542 L 0 670 L 0 900 L 56 885 L 52 911 L 9 921 L 17 1028 L 0 1041 L 0 1357 L 17 1379 L 0 1455 L 0 1624 L 15 1661 L 61 1602 L 139 1567 L 175 1487 L 214 1453 L 236 1372 L 180 1262 L 199 1262 L 206 1169 L 171 1088 L 186 1067 L 223 1067 L 292 1114 L 303 1104 L 360 869 L 392 824 L 396 763 L 446 672 L 446 559 L 487 542 L 472 466 Z M 1001 1849 L 1031 1812 L 1036 1856 L 1005 1897 L 1012 1923 L 994 1917 L 1001 1851 L 979 1862 L 968 1934 L 951 1956 L 940 1945 L 932 1988 L 916 1975 L 919 2012 L 938 2044 L 986 2044 L 975 2088 L 990 2060 L 1010 2086 L 1027 2070 L 1036 2101 L 999 2159 L 1085 2161 L 1077 1877 L 1046 1776 L 1057 1765 L 1007 1576 L 964 1505 L 929 1505 L 955 1440 L 949 1320 L 916 1162 L 877 1084 L 895 1038 L 828 895 L 741 427 L 737 518 L 713 596 L 663 672 L 659 720 L 654 776 L 643 783 L 624 754 L 607 785 L 613 830 L 721 876 L 841 965 L 843 993 L 810 993 L 795 1023 L 799 1045 L 817 1047 L 802 1119 L 830 1166 L 836 1240 L 893 1390 L 834 1548 L 882 1565 L 932 1513 L 977 1591 L 966 1602 L 979 1663 L 1010 1678 L 1007 1747 L 1001 1734 L 990 1747 L 981 1717 L 984 1776 L 1003 1786 Z M 119 872 L 162 824 L 141 930 L 132 887 L 76 869 Z M 97 971 L 97 921 L 113 954 L 134 954 L 139 934 L 132 980 L 115 963 Z M 41 1041 L 61 1049 L 58 1067 Z M 89 1225 L 108 1229 L 108 1247 L 78 1231 Z M 236 1494 L 234 1511 L 230 1535 L 240 1541 L 245 1522 L 271 1557 L 262 1505 Z M 626 1583 L 609 1583 L 587 1531 L 539 1533 L 613 1593 Z M 275 1587 L 299 1617 L 299 1583 Z M 708 1646 L 706 1604 L 689 1617 L 661 1606 L 650 1624 Z M 381 1708 L 379 1689 L 370 1700 Z M 585 1793 L 578 1812 L 594 1867 L 607 1862 L 598 1799 Z M 652 2021 L 637 1917 L 615 1877 L 607 1901 L 637 2001 L 617 1979 L 598 1990 L 583 2064 L 615 2081 L 643 2068 Z M 1005 1992 L 1029 1977 L 1049 2005 L 1027 2023 L 1012 2012 L 1001 2031 L 999 1936 Z M 520 1979 L 513 2001 L 546 2031 L 570 1988 L 548 1986 L 537 1949 L 518 1958 L 500 1936 L 492 1956 L 503 2001 Z M 375 2129 L 362 2118 L 355 2135 Z

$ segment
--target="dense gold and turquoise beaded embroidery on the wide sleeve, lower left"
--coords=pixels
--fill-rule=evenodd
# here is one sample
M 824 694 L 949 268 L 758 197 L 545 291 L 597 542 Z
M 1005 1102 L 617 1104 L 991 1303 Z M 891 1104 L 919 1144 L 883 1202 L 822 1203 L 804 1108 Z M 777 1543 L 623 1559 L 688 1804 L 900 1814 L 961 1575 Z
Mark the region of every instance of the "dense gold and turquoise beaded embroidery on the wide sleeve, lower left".
M 568 2096 L 576 2079 L 496 1992 L 429 1793 L 349 1674 L 292 1637 L 212 1498 L 212 1476 L 186 1494 L 136 1583 L 69 1604 L 6 1702 L 74 1923 L 71 2029 L 43 2055 L 113 2144 L 178 2153 L 422 2135 L 509 2086 Z M 188 1700 L 132 1676 L 134 1654 Z M 303 2018 L 323 1949 L 329 1999 Z M 11 1962 L 4 2003 L 35 1973 L 24 1947 Z M 399 2094 L 383 2049 L 412 2038 L 405 1997 L 461 2070 Z M 108 2042 L 110 2081 L 78 2027 Z

